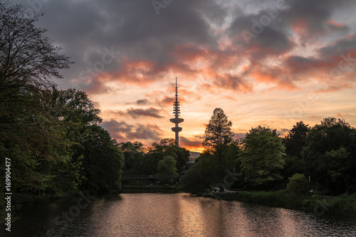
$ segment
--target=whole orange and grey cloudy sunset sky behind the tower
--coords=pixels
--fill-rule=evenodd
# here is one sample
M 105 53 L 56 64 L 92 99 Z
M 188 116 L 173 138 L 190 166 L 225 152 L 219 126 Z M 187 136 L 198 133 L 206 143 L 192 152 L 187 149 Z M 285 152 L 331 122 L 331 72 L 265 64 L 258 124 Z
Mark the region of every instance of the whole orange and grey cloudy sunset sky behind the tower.
M 344 118 L 356 127 L 355 0 L 14 1 L 75 64 L 56 80 L 88 93 L 118 142 L 174 138 L 201 150 L 221 107 L 237 137 Z M 119 53 L 120 52 L 120 53 Z

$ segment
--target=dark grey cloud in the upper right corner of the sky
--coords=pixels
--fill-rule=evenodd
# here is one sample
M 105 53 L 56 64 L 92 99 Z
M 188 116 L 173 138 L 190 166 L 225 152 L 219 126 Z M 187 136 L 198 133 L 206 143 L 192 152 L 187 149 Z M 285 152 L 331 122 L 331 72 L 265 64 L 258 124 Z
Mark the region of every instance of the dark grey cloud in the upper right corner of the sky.
M 298 33 L 301 34 L 302 43 L 332 31 L 347 33 L 348 26 L 339 26 L 330 18 L 337 9 L 351 4 L 350 0 L 275 1 L 257 13 L 244 14 L 244 11 L 239 11 L 227 32 L 230 36 L 239 36 L 235 42 L 245 48 L 258 46 L 258 49 L 266 50 L 259 53 L 259 57 L 286 53 L 293 48 L 293 42 L 290 41 L 293 31 L 290 27 L 295 31 L 300 29 Z M 247 31 L 250 34 L 246 35 Z

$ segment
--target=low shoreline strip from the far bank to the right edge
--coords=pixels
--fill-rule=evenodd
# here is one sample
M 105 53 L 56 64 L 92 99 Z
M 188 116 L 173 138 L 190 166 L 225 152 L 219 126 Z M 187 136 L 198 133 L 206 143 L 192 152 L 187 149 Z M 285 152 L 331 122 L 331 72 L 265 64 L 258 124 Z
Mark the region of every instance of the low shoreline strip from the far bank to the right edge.
M 127 190 L 169 190 L 184 191 L 181 185 L 169 184 L 123 184 L 121 193 Z M 345 216 L 356 218 L 356 194 L 340 196 L 323 196 L 311 194 L 298 196 L 286 190 L 280 191 L 231 191 L 231 192 L 199 192 L 191 194 L 225 201 L 241 201 L 283 209 L 292 209 L 313 213 L 316 216 Z

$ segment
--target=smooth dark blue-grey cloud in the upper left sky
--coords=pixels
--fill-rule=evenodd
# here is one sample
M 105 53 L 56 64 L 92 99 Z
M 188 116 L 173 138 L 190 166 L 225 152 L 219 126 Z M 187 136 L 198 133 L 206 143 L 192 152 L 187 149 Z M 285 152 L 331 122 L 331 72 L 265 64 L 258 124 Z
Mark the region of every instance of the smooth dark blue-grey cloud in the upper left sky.
M 28 7 L 26 1 L 18 2 Z M 160 9 L 159 16 L 147 0 L 49 1 L 39 13 L 45 16 L 38 25 L 49 29 L 48 36 L 76 62 L 64 72 L 67 79 L 78 78 L 81 71 L 100 61 L 105 47 L 114 47 L 122 58 L 151 60 L 162 67 L 174 61 L 168 53 L 174 46 L 187 42 L 214 45 L 206 18 L 219 23 L 225 16 L 213 0 L 174 1 Z M 120 67 L 120 62 L 113 61 L 105 65 L 105 72 Z M 85 90 L 92 86 L 78 84 Z

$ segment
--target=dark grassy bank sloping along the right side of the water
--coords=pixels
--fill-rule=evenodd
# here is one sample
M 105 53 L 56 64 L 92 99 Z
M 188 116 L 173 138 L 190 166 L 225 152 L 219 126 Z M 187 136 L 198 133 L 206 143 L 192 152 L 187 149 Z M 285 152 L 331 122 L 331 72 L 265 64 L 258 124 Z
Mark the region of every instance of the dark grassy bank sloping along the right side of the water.
M 317 216 L 349 216 L 356 217 L 356 194 L 343 194 L 337 197 L 320 195 L 296 196 L 286 191 L 237 191 L 226 193 L 200 193 L 214 199 L 227 201 L 243 201 L 264 206 L 282 207 L 300 211 L 313 212 Z

